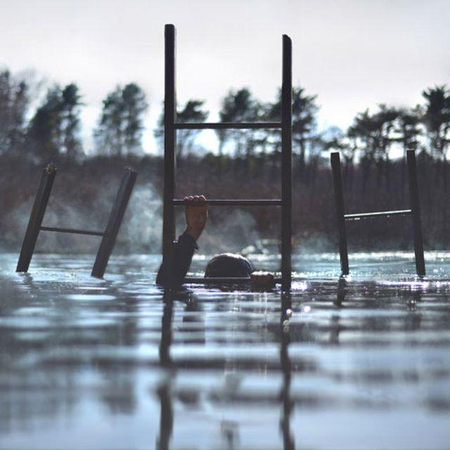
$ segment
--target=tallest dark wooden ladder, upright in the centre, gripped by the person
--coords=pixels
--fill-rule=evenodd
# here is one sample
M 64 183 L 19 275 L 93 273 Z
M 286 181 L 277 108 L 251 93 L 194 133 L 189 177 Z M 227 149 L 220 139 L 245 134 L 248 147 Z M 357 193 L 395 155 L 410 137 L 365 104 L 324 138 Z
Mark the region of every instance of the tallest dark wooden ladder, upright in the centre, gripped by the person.
M 165 26 L 165 101 L 164 101 L 164 217 L 162 257 L 171 259 L 175 239 L 174 207 L 184 205 L 175 199 L 175 149 L 177 129 L 281 129 L 281 200 L 208 200 L 213 206 L 276 206 L 281 207 L 281 285 L 290 289 L 292 235 L 292 43 L 283 34 L 283 82 L 281 122 L 176 122 L 175 89 L 175 27 Z M 190 283 L 203 283 L 203 278 L 186 278 Z M 231 280 L 232 281 L 232 280 Z

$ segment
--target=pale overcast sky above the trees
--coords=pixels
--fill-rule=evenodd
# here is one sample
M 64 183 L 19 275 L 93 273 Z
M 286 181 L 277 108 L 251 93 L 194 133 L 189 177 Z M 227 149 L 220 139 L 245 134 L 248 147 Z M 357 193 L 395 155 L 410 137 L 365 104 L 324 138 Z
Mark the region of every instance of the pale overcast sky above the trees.
M 319 124 L 345 129 L 378 103 L 415 105 L 450 84 L 450 0 L 0 0 L 0 67 L 77 82 L 86 145 L 101 100 L 137 82 L 150 111 L 164 95 L 164 24 L 177 28 L 177 95 L 207 101 L 248 86 L 263 101 L 281 84 L 281 34 L 293 39 L 293 81 L 318 94 Z M 206 139 L 208 142 L 208 139 Z

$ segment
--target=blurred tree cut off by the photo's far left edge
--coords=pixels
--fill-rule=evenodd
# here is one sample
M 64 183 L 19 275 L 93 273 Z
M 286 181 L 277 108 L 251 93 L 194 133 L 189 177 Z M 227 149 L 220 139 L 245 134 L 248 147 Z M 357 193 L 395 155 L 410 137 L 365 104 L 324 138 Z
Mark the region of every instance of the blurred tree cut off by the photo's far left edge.
M 29 105 L 27 83 L 8 70 L 0 72 L 0 154 L 23 149 Z

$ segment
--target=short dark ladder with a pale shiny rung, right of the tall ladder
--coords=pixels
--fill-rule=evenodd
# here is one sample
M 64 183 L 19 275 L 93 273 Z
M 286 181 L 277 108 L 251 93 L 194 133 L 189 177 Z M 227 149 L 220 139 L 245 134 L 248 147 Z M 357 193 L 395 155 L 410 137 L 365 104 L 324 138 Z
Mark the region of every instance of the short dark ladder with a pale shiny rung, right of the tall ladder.
M 420 224 L 420 204 L 417 185 L 416 154 L 414 150 L 406 151 L 408 164 L 409 193 L 411 198 L 411 209 L 380 212 L 361 212 L 356 214 L 345 214 L 344 196 L 342 194 L 342 178 L 340 170 L 340 155 L 333 152 L 330 155 L 331 168 L 333 169 L 333 184 L 335 189 L 336 214 L 338 219 L 339 255 L 342 275 L 349 274 L 349 256 L 347 251 L 347 233 L 345 222 L 354 220 L 372 219 L 376 217 L 406 216 L 411 214 L 413 219 L 414 254 L 416 255 L 416 271 L 419 276 L 425 275 L 425 259 L 423 257 L 422 226 Z

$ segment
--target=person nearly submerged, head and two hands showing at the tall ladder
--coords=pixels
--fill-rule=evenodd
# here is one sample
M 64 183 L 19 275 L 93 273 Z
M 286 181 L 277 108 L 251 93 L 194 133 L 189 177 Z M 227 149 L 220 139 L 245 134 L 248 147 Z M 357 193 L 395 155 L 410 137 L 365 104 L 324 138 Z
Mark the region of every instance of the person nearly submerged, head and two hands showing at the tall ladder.
M 185 197 L 186 231 L 174 242 L 172 263 L 164 261 L 158 271 L 156 283 L 164 286 L 179 286 L 191 266 L 197 240 L 205 228 L 208 218 L 208 205 L 205 195 Z M 245 257 L 233 253 L 222 253 L 213 257 L 205 269 L 205 277 L 209 278 L 249 278 L 252 287 L 259 290 L 270 290 L 275 286 L 273 274 L 257 272 L 252 263 Z

